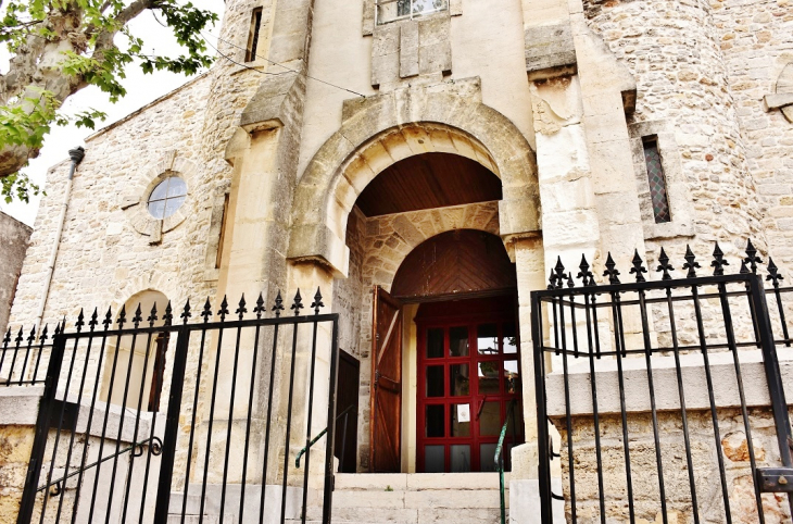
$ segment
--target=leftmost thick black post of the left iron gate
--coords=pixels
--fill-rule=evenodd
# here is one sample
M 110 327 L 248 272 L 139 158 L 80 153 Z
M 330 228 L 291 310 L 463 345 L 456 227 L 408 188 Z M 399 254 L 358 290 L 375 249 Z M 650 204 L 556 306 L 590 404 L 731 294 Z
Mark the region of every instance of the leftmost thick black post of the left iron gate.
M 63 332 L 56 330 L 52 338 L 52 351 L 50 352 L 50 362 L 47 366 L 45 391 L 41 396 L 41 400 L 39 401 L 38 416 L 36 419 L 36 433 L 33 440 L 33 449 L 30 450 L 30 462 L 27 466 L 27 474 L 25 476 L 25 489 L 22 494 L 20 513 L 16 517 L 17 524 L 29 524 L 30 519 L 33 517 L 33 510 L 36 504 L 36 492 L 38 490 L 38 483 L 41 476 L 45 450 L 47 448 L 47 436 L 50 429 L 50 414 L 52 412 L 52 404 L 58 391 L 58 379 L 61 376 L 61 366 L 63 364 L 63 353 L 65 350 L 66 338 L 63 335 Z

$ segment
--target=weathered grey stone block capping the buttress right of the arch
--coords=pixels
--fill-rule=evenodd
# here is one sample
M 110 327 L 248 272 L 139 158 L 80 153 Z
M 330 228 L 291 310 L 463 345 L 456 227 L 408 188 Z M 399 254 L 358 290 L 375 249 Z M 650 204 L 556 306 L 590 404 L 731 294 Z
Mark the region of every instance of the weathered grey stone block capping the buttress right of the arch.
M 524 36 L 526 71 L 530 80 L 576 73 L 576 47 L 569 22 L 530 26 Z

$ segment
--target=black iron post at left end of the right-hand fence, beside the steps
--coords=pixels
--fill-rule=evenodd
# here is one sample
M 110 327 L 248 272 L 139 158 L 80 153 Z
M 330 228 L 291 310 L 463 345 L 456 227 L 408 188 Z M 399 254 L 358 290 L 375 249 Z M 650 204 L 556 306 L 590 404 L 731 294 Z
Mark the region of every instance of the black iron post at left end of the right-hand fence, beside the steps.
M 537 402 L 538 477 L 541 522 L 553 522 L 551 467 L 547 439 L 547 406 L 545 403 L 545 362 L 542 351 L 542 304 L 537 291 L 531 292 L 531 342 L 534 351 L 534 395 Z

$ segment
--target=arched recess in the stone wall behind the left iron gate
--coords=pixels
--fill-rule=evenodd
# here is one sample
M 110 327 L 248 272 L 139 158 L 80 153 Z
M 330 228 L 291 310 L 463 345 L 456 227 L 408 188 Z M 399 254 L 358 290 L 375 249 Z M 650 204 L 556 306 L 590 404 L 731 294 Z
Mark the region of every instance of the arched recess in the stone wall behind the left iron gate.
M 154 289 L 133 295 L 124 303 L 126 319 L 124 327 L 133 327 L 133 319 L 138 308 L 142 319 L 141 326 L 148 326 L 148 319 L 154 305 L 158 311 L 154 326 L 163 325 L 162 316 L 167 304 L 167 297 Z M 119 314 L 121 310 L 116 314 L 116 322 Z M 167 346 L 166 334 L 158 334 L 151 338 L 147 335 L 124 336 L 117 341 L 113 338 L 108 344 L 102 364 L 101 400 L 130 410 L 158 411 Z

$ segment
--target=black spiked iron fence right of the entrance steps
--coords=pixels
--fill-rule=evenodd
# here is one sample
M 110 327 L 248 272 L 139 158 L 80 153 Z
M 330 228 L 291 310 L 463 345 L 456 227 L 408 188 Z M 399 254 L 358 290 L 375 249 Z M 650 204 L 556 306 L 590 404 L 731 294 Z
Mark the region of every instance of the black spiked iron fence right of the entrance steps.
M 542 522 L 790 522 L 793 288 L 751 242 L 738 274 L 684 260 L 622 284 L 609 254 L 605 285 L 559 260 L 532 292 Z

